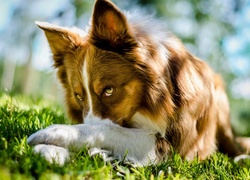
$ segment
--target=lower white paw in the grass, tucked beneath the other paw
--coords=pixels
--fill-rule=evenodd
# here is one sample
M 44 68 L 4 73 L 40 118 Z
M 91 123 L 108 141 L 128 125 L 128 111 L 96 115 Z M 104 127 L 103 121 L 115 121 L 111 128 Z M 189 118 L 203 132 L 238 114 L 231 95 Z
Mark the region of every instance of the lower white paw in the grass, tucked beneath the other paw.
M 70 153 L 67 149 L 54 145 L 38 144 L 34 147 L 34 151 L 50 163 L 64 165 L 70 160 Z

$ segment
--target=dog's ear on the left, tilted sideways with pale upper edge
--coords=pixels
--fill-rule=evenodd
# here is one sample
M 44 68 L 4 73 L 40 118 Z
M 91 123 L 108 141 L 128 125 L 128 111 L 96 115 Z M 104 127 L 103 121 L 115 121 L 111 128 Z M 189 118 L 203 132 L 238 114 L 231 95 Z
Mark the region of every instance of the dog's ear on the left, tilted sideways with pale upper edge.
M 62 65 L 66 54 L 72 54 L 83 42 L 83 34 L 81 35 L 78 29 L 60 27 L 47 22 L 36 22 L 36 24 L 45 32 L 56 68 Z

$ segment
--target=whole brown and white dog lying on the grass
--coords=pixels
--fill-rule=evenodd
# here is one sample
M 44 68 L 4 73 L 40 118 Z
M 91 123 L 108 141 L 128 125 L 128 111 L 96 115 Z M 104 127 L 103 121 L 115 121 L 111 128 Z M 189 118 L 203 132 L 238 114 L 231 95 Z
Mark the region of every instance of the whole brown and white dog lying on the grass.
M 88 32 L 37 25 L 51 47 L 68 114 L 80 123 L 28 138 L 47 160 L 63 164 L 85 146 L 137 165 L 156 164 L 171 149 L 186 159 L 217 149 L 232 157 L 244 152 L 220 77 L 160 23 L 97 0 Z

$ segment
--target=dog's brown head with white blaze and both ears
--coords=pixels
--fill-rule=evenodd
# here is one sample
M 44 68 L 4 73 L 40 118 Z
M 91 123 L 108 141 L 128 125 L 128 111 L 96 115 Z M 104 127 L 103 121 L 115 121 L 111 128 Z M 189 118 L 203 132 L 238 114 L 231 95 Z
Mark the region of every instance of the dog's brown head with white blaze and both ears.
M 162 78 L 168 73 L 161 61 L 167 58 L 165 50 L 157 52 L 160 45 L 150 44 L 145 32 L 128 23 L 112 2 L 96 1 L 88 32 L 37 24 L 45 31 L 69 115 L 76 122 L 108 118 L 131 126 L 138 112 L 157 119 L 165 100 L 164 112 L 173 111 Z

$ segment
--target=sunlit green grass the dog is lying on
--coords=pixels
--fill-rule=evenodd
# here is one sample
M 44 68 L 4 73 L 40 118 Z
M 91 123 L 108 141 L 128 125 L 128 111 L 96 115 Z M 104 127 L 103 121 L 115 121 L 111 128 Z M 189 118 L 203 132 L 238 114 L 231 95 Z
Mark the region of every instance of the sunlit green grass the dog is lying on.
M 174 154 L 157 166 L 133 168 L 106 164 L 83 149 L 64 166 L 49 164 L 27 137 L 54 123 L 69 123 L 55 100 L 0 92 L 0 179 L 250 179 L 250 160 L 236 164 L 220 153 L 202 162 Z

